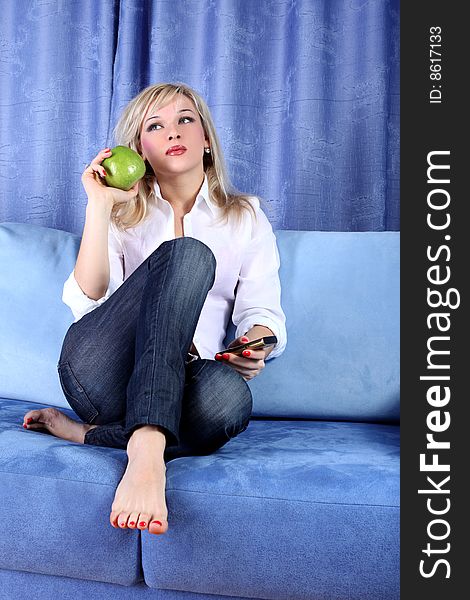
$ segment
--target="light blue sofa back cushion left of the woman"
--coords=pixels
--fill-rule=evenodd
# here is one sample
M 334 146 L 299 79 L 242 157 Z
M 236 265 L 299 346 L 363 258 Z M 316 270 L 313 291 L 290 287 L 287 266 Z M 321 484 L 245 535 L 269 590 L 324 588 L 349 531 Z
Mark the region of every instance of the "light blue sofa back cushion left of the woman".
M 62 288 L 79 245 L 66 231 L 0 224 L 0 396 L 68 407 L 57 362 L 74 319 Z

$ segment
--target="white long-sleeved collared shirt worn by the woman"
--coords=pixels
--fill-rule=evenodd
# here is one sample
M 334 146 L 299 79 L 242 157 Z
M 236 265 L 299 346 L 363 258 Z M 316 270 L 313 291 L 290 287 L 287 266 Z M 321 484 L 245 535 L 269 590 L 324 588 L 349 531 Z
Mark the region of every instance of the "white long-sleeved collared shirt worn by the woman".
M 79 287 L 74 271 L 65 282 L 62 300 L 72 310 L 75 322 L 106 302 L 160 244 L 175 238 L 173 208 L 162 198 L 156 182 L 154 192 L 155 198 L 149 199 L 149 215 L 136 227 L 123 232 L 110 221 L 110 281 L 105 295 L 99 300 L 89 298 Z M 217 261 L 215 282 L 193 339 L 201 358 L 213 359 L 223 349 L 230 315 L 236 337 L 254 325 L 273 331 L 278 343 L 268 358 L 279 356 L 286 346 L 276 238 L 258 198 L 252 197 L 251 203 L 256 219 L 244 210 L 240 225 L 230 218 L 228 223 L 218 221 L 222 210 L 211 200 L 205 178 L 191 211 L 183 218 L 184 235 L 206 244 Z

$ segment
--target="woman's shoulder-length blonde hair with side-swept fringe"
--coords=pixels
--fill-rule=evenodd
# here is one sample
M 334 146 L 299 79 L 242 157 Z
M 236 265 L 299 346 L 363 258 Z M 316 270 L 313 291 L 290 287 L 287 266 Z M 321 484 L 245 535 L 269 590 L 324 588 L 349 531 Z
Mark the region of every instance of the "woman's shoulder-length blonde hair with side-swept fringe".
M 207 176 L 211 199 L 222 209 L 222 218 L 228 219 L 229 216 L 235 216 L 237 221 L 240 221 L 244 210 L 251 210 L 255 216 L 250 196 L 238 192 L 230 182 L 207 104 L 197 92 L 187 85 L 159 83 L 142 90 L 126 105 L 113 130 L 116 145 L 128 146 L 142 156 L 140 132 L 148 108 L 163 108 L 177 94 L 183 94 L 193 102 L 199 113 L 205 137 L 209 140 L 211 152 L 210 154 L 204 153 L 203 168 Z M 151 184 L 155 174 L 148 161 L 146 161 L 146 165 L 147 170 L 139 185 L 137 196 L 131 201 L 115 204 L 113 207 L 112 220 L 122 230 L 135 227 L 148 215 L 148 203 L 154 194 Z

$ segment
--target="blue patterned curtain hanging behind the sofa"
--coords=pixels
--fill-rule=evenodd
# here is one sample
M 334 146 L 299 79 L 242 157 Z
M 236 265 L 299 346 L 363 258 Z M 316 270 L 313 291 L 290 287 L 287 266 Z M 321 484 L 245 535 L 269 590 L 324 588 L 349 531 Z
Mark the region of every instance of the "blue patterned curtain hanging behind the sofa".
M 2 0 L 0 221 L 81 233 L 124 105 L 183 81 L 276 229 L 399 229 L 398 0 Z

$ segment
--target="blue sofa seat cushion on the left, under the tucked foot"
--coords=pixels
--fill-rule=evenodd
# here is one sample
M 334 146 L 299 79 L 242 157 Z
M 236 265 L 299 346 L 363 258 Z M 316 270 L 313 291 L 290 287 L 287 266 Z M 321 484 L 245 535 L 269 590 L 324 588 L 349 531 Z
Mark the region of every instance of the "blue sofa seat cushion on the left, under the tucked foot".
M 0 398 L 2 568 L 120 585 L 141 581 L 139 535 L 109 523 L 125 451 L 26 431 L 23 415 L 36 408 L 43 405 Z

